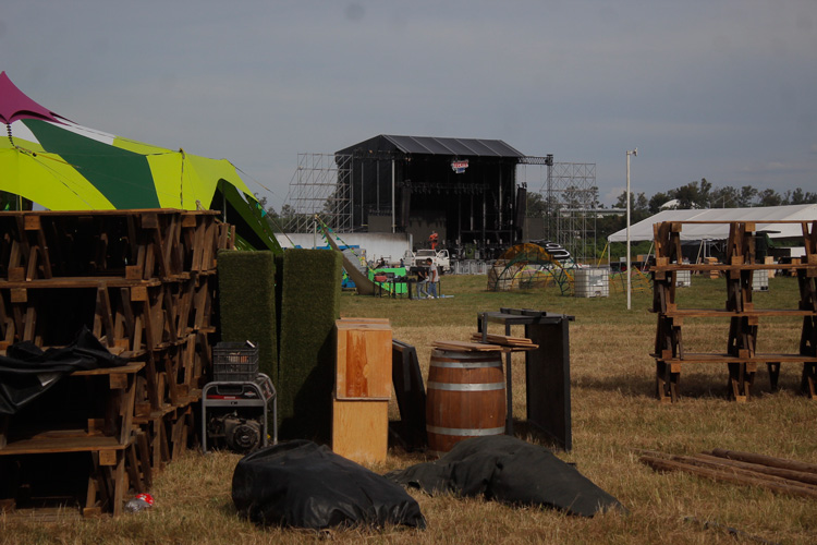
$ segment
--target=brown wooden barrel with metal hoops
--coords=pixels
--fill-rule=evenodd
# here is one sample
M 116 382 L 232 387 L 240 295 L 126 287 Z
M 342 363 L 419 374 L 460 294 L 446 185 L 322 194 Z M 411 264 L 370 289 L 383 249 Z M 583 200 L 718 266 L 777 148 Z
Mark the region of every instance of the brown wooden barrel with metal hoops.
M 426 384 L 426 432 L 431 453 L 468 437 L 505 431 L 502 352 L 435 350 Z

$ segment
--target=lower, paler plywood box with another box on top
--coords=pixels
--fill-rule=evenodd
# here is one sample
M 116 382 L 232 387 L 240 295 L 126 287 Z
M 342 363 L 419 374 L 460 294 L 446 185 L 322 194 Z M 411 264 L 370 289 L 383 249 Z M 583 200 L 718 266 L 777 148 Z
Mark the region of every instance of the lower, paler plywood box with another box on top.
M 332 450 L 355 462 L 382 462 L 389 448 L 389 402 L 332 402 Z

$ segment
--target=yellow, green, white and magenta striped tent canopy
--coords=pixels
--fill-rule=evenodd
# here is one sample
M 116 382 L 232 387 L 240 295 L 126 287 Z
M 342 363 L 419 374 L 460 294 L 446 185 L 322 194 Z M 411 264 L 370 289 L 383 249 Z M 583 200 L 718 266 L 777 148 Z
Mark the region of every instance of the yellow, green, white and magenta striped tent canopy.
M 0 191 L 50 210 L 225 209 L 254 246 L 278 246 L 253 193 L 225 159 L 208 159 L 78 125 L 0 73 Z M 218 203 L 215 203 L 217 199 Z M 239 229 L 242 234 L 242 229 Z M 272 241 L 267 241 L 271 238 Z M 280 247 L 280 246 L 278 246 Z

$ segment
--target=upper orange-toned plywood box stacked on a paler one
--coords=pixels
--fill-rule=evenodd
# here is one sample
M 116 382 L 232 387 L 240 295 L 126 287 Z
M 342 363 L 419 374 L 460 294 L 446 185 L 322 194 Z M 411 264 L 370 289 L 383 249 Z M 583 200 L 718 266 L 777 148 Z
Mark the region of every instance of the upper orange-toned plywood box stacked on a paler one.
M 391 398 L 391 326 L 388 323 L 336 322 L 338 399 Z

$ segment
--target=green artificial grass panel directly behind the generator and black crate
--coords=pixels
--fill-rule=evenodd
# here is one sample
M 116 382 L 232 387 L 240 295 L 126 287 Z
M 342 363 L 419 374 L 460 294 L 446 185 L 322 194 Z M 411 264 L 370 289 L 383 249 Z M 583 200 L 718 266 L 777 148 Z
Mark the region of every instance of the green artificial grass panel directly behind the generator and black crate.
M 218 255 L 221 340 L 258 346 L 258 371 L 278 376 L 276 264 L 272 252 L 225 250 Z

